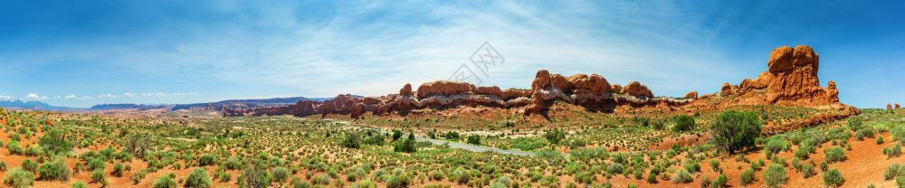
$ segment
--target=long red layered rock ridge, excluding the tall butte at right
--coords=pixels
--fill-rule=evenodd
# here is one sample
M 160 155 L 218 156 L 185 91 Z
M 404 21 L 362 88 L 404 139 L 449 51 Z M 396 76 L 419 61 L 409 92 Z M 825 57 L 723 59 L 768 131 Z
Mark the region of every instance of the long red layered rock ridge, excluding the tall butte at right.
M 653 99 L 653 92 L 647 86 L 633 81 L 621 89 L 623 97 L 613 97 L 613 89 L 603 76 L 597 74 L 575 74 L 569 77 L 550 74 L 546 70 L 537 72 L 531 89 L 500 89 L 499 87 L 476 87 L 466 82 L 438 80 L 427 82 L 413 91 L 411 84 L 399 89 L 399 94 L 382 97 L 356 98 L 339 95 L 323 102 L 304 100 L 287 107 L 271 108 L 226 108 L 224 116 L 261 116 L 291 114 L 299 117 L 320 114 L 350 115 L 358 118 L 368 112 L 373 115 L 390 113 L 405 115 L 414 109 L 446 109 L 459 106 L 488 108 L 519 108 L 525 114 L 546 114 L 556 100 L 585 107 L 593 111 L 612 111 L 616 105 L 656 106 L 675 101 L 662 102 Z M 668 106 L 669 106 L 668 105 Z

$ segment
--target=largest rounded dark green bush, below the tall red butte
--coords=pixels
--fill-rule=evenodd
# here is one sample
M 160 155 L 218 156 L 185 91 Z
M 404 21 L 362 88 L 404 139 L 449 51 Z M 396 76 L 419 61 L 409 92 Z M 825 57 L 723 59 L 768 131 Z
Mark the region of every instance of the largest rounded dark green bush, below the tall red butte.
M 755 140 L 761 131 L 757 114 L 734 110 L 720 113 L 710 128 L 713 137 L 711 142 L 729 154 L 755 146 Z

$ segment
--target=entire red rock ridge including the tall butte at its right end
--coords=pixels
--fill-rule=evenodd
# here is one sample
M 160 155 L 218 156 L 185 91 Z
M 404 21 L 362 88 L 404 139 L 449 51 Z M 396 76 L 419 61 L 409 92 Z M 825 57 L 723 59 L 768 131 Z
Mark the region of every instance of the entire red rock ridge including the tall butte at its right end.
M 619 106 L 650 107 L 663 112 L 732 105 L 850 108 L 839 102 L 839 91 L 834 81 L 827 82 L 826 88 L 820 87 L 817 80 L 818 65 L 819 56 L 811 47 L 779 47 L 770 53 L 767 71 L 756 79 L 745 79 L 738 85 L 725 83 L 719 93 L 700 97 L 697 91 L 691 91 L 684 98 L 654 98 L 653 91 L 638 81 L 624 86 L 611 85 L 597 74 L 579 73 L 566 77 L 540 70 L 531 82 L 531 89 L 476 87 L 466 82 L 438 80 L 424 83 L 416 90 L 411 84 L 405 84 L 398 94 L 381 97 L 357 98 L 346 94 L 323 102 L 303 100 L 287 107 L 227 108 L 223 111 L 224 116 L 291 114 L 306 117 L 342 114 L 359 118 L 367 113 L 376 116 L 406 115 L 412 110 L 425 108 L 443 110 L 480 106 L 516 108 L 526 115 L 546 115 L 557 100 L 604 112 L 611 112 Z M 699 100 L 701 102 L 696 102 Z

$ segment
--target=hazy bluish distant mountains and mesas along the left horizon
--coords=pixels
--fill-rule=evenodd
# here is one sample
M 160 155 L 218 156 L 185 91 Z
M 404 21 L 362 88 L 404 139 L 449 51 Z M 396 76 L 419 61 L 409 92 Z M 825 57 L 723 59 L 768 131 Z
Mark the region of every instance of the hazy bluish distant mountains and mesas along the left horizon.
M 360 97 L 360 96 L 356 96 Z M 315 101 L 324 101 L 333 98 L 304 98 L 304 97 L 295 97 L 295 98 L 273 98 L 273 99 L 229 99 L 222 100 L 216 102 L 205 102 L 205 103 L 192 103 L 192 104 L 100 104 L 95 105 L 90 108 L 70 108 L 70 107 L 56 107 L 44 103 L 42 101 L 25 101 L 25 100 L 0 100 L 0 107 L 10 108 L 10 109 L 33 109 L 33 110 L 52 110 L 52 111 L 72 111 L 72 110 L 110 110 L 110 109 L 156 109 L 156 108 L 170 108 L 170 110 L 179 110 L 179 109 L 189 109 L 189 108 L 208 108 L 208 109 L 222 109 L 222 108 L 234 108 L 234 107 L 271 107 L 271 106 L 282 106 L 282 105 L 291 105 L 299 102 L 300 100 L 315 100 Z

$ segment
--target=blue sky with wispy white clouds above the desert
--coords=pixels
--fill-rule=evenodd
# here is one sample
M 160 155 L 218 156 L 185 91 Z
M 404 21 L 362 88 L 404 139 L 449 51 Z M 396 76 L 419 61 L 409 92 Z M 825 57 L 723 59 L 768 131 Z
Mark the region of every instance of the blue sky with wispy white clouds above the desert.
M 862 2 L 858 2 L 862 3 Z M 57 106 L 380 96 L 491 45 L 486 85 L 538 69 L 712 93 L 807 44 L 843 103 L 905 103 L 905 4 L 849 1 L 3 1 L 0 99 Z

